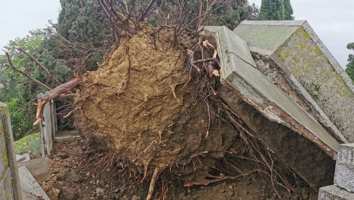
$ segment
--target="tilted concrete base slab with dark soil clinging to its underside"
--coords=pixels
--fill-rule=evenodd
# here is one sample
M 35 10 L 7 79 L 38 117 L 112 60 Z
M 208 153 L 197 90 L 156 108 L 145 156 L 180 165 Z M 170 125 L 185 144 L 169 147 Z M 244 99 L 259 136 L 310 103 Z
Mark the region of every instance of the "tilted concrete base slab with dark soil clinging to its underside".
M 312 187 L 331 184 L 334 161 L 326 153 L 335 157 L 337 141 L 255 68 L 240 37 L 221 26 L 207 26 L 202 35 L 218 49 L 219 96 Z

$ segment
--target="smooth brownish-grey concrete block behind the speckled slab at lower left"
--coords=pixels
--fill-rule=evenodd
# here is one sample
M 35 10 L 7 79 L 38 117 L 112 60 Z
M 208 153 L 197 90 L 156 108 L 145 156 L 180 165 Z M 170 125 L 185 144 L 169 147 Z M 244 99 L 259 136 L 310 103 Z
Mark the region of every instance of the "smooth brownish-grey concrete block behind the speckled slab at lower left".
M 25 166 L 39 183 L 48 181 L 49 168 L 48 158 L 37 158 L 33 160 L 23 161 L 18 163 L 18 168 Z

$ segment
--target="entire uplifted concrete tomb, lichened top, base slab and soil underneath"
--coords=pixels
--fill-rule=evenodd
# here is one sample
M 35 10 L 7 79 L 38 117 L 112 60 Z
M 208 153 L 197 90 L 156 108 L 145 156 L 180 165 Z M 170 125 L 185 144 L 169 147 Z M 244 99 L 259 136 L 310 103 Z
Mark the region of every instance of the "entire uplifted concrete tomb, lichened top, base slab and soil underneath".
M 354 86 L 309 24 L 245 21 L 202 36 L 218 49 L 218 95 L 312 187 L 332 184 L 338 145 L 354 140 Z

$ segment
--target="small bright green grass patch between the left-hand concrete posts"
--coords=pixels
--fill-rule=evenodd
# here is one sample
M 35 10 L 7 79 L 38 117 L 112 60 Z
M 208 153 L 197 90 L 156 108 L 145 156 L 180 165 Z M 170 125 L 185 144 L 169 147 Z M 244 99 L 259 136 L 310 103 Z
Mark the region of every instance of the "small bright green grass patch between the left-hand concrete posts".
M 34 133 L 15 141 L 16 154 L 31 152 L 33 158 L 41 157 L 41 134 Z

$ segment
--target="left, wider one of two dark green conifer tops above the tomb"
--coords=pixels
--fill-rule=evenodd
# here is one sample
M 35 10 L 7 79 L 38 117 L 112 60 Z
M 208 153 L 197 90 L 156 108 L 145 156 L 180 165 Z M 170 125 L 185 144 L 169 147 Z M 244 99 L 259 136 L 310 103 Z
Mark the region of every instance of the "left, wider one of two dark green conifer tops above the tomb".
M 283 0 L 262 0 L 261 12 L 266 20 L 284 20 L 285 8 Z

